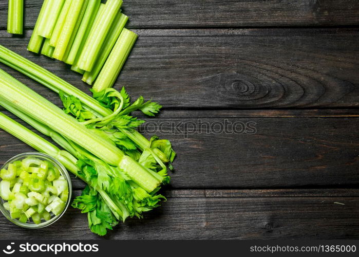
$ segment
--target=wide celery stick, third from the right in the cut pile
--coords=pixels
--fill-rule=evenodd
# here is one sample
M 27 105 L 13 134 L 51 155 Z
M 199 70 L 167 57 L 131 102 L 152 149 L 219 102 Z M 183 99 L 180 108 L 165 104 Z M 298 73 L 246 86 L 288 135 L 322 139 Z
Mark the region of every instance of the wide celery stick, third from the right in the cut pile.
M 80 69 L 91 71 L 99 54 L 99 50 L 106 38 L 106 34 L 108 33 L 121 5 L 122 0 L 108 0 L 106 2 L 104 10 L 99 20 L 91 29 L 81 52 L 78 64 Z

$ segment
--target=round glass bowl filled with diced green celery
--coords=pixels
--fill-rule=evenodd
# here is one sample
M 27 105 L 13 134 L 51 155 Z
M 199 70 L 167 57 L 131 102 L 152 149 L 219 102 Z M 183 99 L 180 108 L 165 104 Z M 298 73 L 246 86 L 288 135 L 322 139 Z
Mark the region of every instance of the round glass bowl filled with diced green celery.
M 0 169 L 0 210 L 21 227 L 42 228 L 57 221 L 71 191 L 64 166 L 46 154 L 20 154 Z

